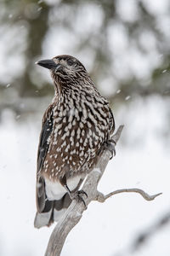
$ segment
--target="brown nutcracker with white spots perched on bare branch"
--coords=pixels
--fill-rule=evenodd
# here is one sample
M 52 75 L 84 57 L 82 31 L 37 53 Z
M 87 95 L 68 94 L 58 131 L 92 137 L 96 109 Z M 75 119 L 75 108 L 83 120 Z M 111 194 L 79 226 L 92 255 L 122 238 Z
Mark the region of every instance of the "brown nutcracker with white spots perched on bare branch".
M 81 184 L 101 148 L 115 150 L 115 120 L 109 102 L 76 57 L 57 55 L 36 64 L 48 68 L 54 81 L 54 98 L 42 117 L 37 150 L 34 226 L 41 228 L 58 221 L 72 200 L 85 204 L 88 192 Z

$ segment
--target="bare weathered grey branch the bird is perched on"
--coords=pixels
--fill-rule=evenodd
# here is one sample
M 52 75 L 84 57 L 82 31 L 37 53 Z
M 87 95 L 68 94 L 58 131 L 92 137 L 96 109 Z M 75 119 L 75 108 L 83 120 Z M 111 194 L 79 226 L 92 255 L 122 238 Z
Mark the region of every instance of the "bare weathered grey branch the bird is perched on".
M 118 142 L 121 133 L 122 133 L 123 125 L 120 125 L 116 134 L 111 138 L 115 143 Z M 103 173 L 105 172 L 105 167 L 107 166 L 109 160 L 111 158 L 111 152 L 105 149 L 99 157 L 98 163 L 95 166 L 94 170 L 88 174 L 86 178 L 82 190 L 84 190 L 88 194 L 88 198 L 84 198 L 86 201 L 86 205 L 91 201 L 99 201 L 103 202 L 107 198 L 111 197 L 111 195 L 116 195 L 122 192 L 136 192 L 144 197 L 146 200 L 153 200 L 157 195 L 148 195 L 141 189 L 120 189 L 116 190 L 108 195 L 103 195 L 97 190 L 98 183 Z M 93 185 L 92 185 L 93 184 Z M 63 214 L 63 216 L 59 219 L 59 222 L 54 227 L 54 230 L 49 238 L 48 247 L 45 253 L 45 256 L 59 256 L 64 246 L 66 236 L 72 230 L 72 228 L 79 222 L 82 218 L 82 212 L 86 210 L 83 202 L 77 202 L 73 200 L 71 202 L 71 206 L 67 209 L 67 211 Z

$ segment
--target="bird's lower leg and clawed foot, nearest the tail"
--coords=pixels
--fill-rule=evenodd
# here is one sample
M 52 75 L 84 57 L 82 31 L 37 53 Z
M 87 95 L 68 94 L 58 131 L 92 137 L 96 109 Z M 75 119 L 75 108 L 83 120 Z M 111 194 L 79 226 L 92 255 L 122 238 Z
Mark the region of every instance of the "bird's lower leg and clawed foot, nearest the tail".
M 86 197 L 88 198 L 88 194 L 84 191 L 84 190 L 74 190 L 71 191 L 66 183 L 66 177 L 60 177 L 59 178 L 59 182 L 65 187 L 67 193 L 69 194 L 69 196 L 71 197 L 71 200 L 77 200 L 77 201 L 82 201 L 84 204 L 84 207 L 86 207 L 87 209 L 87 205 L 86 202 L 84 201 L 82 195 L 86 195 Z

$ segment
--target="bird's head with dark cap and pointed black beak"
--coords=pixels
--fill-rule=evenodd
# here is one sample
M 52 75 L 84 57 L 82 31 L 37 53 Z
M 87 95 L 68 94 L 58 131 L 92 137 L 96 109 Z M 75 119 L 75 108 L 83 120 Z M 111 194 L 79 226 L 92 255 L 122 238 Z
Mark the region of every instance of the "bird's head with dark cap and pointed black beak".
M 36 64 L 48 68 L 53 79 L 68 81 L 88 74 L 82 63 L 71 55 L 58 55 L 51 60 L 37 61 Z

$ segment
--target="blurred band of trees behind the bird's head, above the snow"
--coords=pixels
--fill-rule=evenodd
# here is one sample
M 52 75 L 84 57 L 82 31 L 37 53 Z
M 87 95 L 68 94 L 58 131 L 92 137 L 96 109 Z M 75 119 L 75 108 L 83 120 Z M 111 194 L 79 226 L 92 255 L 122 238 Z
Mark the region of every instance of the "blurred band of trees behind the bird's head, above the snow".
M 82 60 L 113 102 L 170 95 L 168 1 L 2 0 L 0 16 L 1 108 L 53 94 L 34 62 L 55 53 Z

